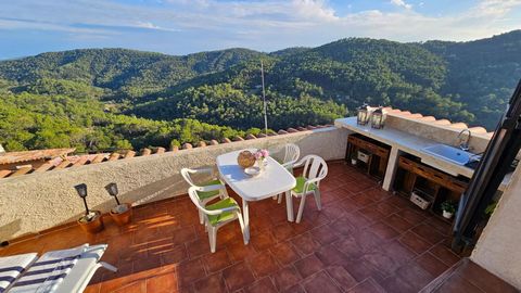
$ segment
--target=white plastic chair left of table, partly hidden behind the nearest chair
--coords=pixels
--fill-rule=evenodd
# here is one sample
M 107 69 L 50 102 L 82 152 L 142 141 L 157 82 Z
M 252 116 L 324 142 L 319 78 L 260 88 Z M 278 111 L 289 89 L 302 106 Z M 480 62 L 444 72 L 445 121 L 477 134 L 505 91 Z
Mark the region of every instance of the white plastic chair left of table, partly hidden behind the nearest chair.
M 212 179 L 204 182 L 194 182 L 191 175 L 192 174 L 205 174 L 212 176 Z M 182 168 L 181 176 L 185 178 L 185 181 L 190 184 L 190 187 L 215 187 L 212 191 L 198 191 L 198 198 L 201 204 L 204 206 L 208 202 L 220 198 L 221 200 L 228 198 L 228 193 L 226 192 L 226 186 L 220 181 L 217 177 L 214 176 L 213 168 L 200 168 L 200 169 L 189 169 Z M 199 221 L 204 224 L 204 215 L 199 211 Z

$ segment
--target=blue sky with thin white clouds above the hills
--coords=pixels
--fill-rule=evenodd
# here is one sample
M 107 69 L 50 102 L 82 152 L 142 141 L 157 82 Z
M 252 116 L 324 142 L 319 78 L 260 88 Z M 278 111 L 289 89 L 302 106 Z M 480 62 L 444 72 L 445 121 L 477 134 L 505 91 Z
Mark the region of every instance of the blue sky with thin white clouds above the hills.
M 472 40 L 521 28 L 521 0 L 1 0 L 0 59 L 77 48 L 275 51 L 346 37 Z

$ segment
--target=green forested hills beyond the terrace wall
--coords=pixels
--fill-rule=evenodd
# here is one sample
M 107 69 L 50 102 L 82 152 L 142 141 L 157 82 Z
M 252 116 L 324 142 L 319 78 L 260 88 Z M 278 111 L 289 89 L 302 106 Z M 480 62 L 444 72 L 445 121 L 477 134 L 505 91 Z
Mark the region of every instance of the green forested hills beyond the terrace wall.
M 272 53 L 86 49 L 3 61 L 0 143 L 87 152 L 258 133 L 260 60 L 272 129 L 331 123 L 364 102 L 493 129 L 521 78 L 521 31 L 471 42 L 351 38 Z

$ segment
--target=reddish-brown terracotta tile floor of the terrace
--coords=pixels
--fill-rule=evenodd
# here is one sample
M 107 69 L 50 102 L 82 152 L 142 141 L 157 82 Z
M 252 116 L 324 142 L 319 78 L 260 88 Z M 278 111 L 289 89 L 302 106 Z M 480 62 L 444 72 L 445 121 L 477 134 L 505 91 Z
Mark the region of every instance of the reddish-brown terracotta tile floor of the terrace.
M 99 269 L 86 292 L 126 293 L 417 292 L 459 260 L 448 225 L 341 162 L 329 168 L 322 211 L 308 200 L 301 224 L 287 221 L 283 203 L 252 203 L 249 245 L 228 225 L 211 254 L 195 207 L 180 196 L 136 208 L 124 228 L 106 219 L 103 232 L 86 235 L 73 226 L 0 255 L 107 243 L 103 260 L 119 271 Z

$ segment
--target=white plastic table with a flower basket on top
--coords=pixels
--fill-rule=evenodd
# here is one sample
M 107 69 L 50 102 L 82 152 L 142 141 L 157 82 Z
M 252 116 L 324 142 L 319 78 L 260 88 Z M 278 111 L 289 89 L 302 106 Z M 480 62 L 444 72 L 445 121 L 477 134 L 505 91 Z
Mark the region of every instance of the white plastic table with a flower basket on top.
M 259 201 L 285 193 L 288 220 L 293 221 L 293 201 L 291 191 L 296 180 L 282 165 L 272 157 L 267 158 L 267 166 L 256 177 L 251 177 L 237 163 L 237 156 L 243 150 L 217 156 L 217 168 L 223 180 L 242 199 L 245 238 L 250 241 L 250 216 L 247 202 Z M 254 150 L 250 150 L 254 151 Z

